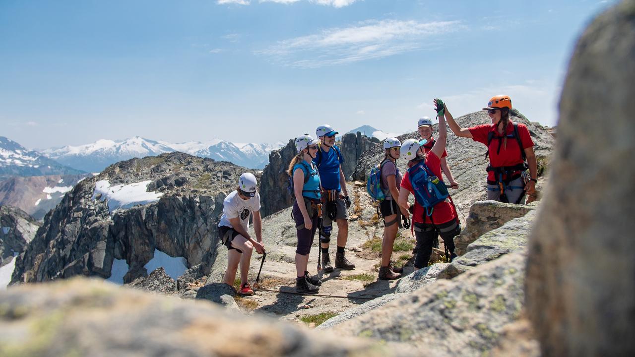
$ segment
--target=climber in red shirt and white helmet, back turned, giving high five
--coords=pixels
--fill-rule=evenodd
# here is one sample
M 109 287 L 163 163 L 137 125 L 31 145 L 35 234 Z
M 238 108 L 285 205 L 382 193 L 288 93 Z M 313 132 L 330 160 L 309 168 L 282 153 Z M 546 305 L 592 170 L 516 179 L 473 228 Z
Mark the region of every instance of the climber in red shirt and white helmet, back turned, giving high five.
M 436 102 L 436 101 L 435 101 Z M 447 129 L 445 119 L 439 116 L 439 137 L 437 138 L 432 149 L 426 153 L 424 149 L 426 140 L 406 140 L 401 145 L 401 156 L 408 159 L 408 168 L 424 161 L 429 172 L 442 180 L 441 177 L 441 155 L 445 151 L 447 141 Z M 401 180 L 399 188 L 398 203 L 404 209 L 408 209 L 408 196 L 414 194 L 415 190 L 410 182 L 410 174 L 406 172 Z M 428 215 L 430 213 L 430 215 Z M 415 256 L 415 269 L 421 269 L 428 266 L 430 256 L 432 255 L 432 243 L 434 237 L 439 234 L 443 238 L 443 242 L 450 254 L 450 260 L 457 255 L 454 253 L 454 237 L 461 232 L 458 223 L 457 212 L 449 201 L 441 201 L 437 203 L 431 210 L 424 208 L 415 201 L 412 213 L 413 229 L 415 238 L 417 239 L 417 255 Z

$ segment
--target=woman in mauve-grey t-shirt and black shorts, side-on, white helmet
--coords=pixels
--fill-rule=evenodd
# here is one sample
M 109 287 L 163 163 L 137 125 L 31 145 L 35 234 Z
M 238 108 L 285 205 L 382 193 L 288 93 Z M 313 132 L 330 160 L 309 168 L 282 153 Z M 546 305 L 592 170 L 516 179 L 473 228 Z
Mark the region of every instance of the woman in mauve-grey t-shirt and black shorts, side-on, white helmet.
M 399 198 L 399 184 L 401 184 L 401 172 L 397 168 L 399 149 L 401 142 L 396 138 L 387 138 L 384 141 L 385 157 L 380 163 L 380 185 L 384 192 L 384 200 L 379 203 L 379 210 L 384 218 L 384 240 L 382 241 L 382 261 L 379 268 L 381 280 L 394 280 L 401 278 L 403 267 L 396 268 L 391 264 L 392 248 L 394 247 L 397 231 L 399 231 L 399 214 L 408 217 L 408 210 L 397 205 Z

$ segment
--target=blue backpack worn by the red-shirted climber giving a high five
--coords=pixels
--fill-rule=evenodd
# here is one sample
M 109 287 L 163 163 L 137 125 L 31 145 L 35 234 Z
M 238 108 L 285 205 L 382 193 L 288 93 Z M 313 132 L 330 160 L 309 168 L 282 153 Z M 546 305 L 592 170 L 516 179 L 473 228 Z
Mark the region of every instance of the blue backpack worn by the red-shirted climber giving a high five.
M 415 191 L 415 200 L 425 208 L 425 214 L 430 216 L 434 211 L 434 206 L 445 201 L 448 193 L 445 182 L 432 173 L 423 161 L 408 169 L 408 179 Z

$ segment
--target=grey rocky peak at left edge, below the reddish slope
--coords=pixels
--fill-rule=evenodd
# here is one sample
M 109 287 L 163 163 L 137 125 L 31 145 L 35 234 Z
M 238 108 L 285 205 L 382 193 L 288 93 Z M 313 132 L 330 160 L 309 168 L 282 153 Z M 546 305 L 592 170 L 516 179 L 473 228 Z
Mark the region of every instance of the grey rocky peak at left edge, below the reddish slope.
M 0 206 L 0 267 L 22 253 L 39 226 L 39 222 L 20 208 Z

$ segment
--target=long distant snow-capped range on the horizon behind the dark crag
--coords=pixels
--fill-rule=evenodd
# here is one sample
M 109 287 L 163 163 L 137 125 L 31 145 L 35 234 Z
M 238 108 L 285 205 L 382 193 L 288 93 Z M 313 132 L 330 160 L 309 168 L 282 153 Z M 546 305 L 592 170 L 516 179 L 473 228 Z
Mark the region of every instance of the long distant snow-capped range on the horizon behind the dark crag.
M 269 152 L 283 143 L 276 144 L 234 144 L 222 139 L 208 142 L 183 142 L 172 144 L 165 141 L 133 137 L 121 141 L 98 140 L 93 144 L 65 146 L 44 150 L 52 159 L 75 168 L 90 172 L 100 172 L 108 165 L 131 158 L 156 156 L 163 152 L 181 151 L 202 158 L 230 161 L 248 168 L 264 168 L 269 162 Z

